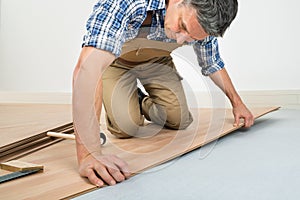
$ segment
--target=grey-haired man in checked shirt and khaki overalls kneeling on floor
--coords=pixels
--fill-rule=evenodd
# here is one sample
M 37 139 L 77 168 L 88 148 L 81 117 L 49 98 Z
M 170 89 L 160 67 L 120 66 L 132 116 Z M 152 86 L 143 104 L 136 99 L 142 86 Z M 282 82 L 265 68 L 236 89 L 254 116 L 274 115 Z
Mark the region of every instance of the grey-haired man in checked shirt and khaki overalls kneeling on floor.
M 81 176 L 99 187 L 130 176 L 123 160 L 101 153 L 102 97 L 108 129 L 120 138 L 139 134 L 143 115 L 174 129 L 191 123 L 180 77 L 169 55 L 178 47 L 176 42 L 193 45 L 202 73 L 229 98 L 234 125 L 240 118 L 245 127 L 253 124 L 253 116 L 234 89 L 218 52 L 216 36 L 224 34 L 236 12 L 236 0 L 101 0 L 95 5 L 73 77 L 73 119 Z M 146 36 L 139 31 L 143 26 L 150 26 L 144 31 Z M 136 90 L 136 78 L 150 96 Z

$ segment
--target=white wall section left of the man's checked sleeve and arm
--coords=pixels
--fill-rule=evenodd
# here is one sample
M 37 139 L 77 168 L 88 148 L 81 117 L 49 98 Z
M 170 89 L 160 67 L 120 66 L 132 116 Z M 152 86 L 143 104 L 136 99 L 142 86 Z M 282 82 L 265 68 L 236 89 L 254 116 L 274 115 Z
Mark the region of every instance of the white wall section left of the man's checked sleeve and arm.
M 2 0 L 0 91 L 70 92 L 94 2 Z

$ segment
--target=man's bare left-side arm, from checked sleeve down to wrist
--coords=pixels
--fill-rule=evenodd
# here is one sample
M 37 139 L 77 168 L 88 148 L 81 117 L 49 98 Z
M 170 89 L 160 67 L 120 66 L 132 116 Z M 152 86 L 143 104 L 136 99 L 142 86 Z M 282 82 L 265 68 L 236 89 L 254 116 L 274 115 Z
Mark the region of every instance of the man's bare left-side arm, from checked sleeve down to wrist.
M 73 79 L 73 121 L 78 161 L 101 153 L 99 115 L 102 105 L 102 74 L 115 59 L 109 52 L 82 50 Z

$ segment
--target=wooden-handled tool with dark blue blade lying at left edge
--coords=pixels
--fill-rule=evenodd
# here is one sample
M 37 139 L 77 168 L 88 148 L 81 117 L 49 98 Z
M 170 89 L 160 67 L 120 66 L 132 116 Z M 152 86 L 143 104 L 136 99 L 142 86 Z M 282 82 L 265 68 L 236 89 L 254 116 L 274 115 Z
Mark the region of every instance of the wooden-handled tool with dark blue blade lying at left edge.
M 44 170 L 44 166 L 37 165 L 33 163 L 23 162 L 19 160 L 12 160 L 4 163 L 0 163 L 0 167 L 3 170 L 11 171 L 12 173 L 0 176 L 0 184 L 20 178 L 23 176 L 27 176 L 29 174 L 33 174 L 36 172 L 42 172 Z

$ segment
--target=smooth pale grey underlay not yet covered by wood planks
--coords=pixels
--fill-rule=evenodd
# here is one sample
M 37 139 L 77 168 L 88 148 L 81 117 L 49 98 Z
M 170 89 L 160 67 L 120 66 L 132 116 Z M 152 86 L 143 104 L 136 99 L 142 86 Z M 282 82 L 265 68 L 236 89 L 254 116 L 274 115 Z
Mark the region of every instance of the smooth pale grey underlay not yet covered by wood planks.
M 75 199 L 300 199 L 299 142 L 300 110 L 280 109 L 251 129 Z

